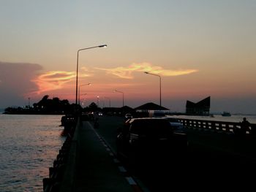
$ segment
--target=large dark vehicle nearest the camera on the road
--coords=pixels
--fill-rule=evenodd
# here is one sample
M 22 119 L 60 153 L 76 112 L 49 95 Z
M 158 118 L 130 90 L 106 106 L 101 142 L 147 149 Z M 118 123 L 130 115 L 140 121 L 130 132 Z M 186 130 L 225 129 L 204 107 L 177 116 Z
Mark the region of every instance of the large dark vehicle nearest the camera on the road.
M 187 153 L 187 134 L 173 132 L 164 118 L 132 118 L 118 133 L 116 145 L 119 157 L 140 161 Z

